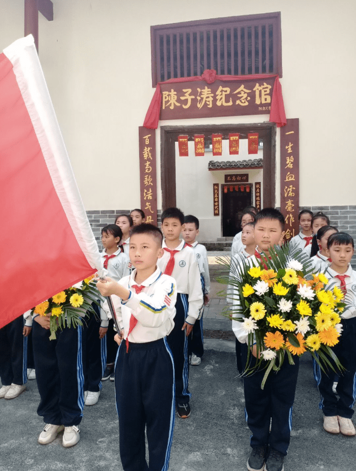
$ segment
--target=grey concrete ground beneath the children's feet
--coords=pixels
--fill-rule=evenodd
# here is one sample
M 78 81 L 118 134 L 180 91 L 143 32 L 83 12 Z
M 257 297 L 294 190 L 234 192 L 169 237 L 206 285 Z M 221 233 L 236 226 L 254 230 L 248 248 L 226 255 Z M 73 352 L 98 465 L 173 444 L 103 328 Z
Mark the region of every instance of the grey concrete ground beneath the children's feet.
M 209 255 L 214 255 L 210 254 Z M 190 368 L 191 416 L 176 418 L 171 449 L 171 471 L 242 471 L 250 453 L 250 432 L 244 418 L 242 381 L 237 377 L 235 341 L 225 308 L 225 289 L 218 283 L 221 269 L 210 258 L 211 300 L 204 313 L 205 354 Z M 208 338 L 217 337 L 217 338 Z M 286 471 L 341 471 L 356 468 L 356 437 L 330 435 L 322 428 L 319 394 L 310 356 L 300 362 L 293 410 L 292 439 Z M 114 383 L 105 381 L 99 401 L 85 407 L 81 440 L 65 449 L 62 433 L 41 446 L 43 428 L 36 413 L 36 381 L 14 400 L 0 399 L 0 471 L 121 471 Z

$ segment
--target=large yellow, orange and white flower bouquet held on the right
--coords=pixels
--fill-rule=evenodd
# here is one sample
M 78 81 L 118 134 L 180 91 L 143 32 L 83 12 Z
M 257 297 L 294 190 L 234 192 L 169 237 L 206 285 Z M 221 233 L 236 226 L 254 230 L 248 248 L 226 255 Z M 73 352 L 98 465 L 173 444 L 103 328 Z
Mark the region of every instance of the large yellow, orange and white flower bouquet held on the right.
M 281 369 L 285 356 L 294 364 L 292 355 L 309 351 L 323 371 L 334 370 L 330 358 L 342 369 L 330 347 L 339 342 L 342 330 L 343 293 L 337 286 L 326 291 L 327 278 L 311 274 L 309 260 L 287 244 L 264 253 L 256 265 L 241 259 L 230 272 L 233 308 L 226 316 L 241 322 L 247 335 L 244 374 L 266 368 L 262 389 L 270 372 Z M 255 343 L 256 365 L 248 369 Z

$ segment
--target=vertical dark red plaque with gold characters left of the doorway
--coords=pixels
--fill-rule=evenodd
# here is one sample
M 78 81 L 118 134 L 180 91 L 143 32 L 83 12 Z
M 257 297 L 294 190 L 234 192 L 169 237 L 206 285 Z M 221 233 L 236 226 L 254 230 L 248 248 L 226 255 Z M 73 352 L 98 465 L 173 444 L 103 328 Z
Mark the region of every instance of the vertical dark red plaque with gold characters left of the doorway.
M 156 133 L 140 126 L 138 136 L 141 209 L 146 215 L 145 222 L 157 226 Z

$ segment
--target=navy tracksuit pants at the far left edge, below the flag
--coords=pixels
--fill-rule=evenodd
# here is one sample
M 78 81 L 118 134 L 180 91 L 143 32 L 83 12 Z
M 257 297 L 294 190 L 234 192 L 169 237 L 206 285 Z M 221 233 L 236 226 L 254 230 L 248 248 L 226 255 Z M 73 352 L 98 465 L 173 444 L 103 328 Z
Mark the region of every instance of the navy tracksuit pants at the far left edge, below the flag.
M 0 329 L 0 378 L 3 386 L 27 383 L 27 337 L 23 316 Z

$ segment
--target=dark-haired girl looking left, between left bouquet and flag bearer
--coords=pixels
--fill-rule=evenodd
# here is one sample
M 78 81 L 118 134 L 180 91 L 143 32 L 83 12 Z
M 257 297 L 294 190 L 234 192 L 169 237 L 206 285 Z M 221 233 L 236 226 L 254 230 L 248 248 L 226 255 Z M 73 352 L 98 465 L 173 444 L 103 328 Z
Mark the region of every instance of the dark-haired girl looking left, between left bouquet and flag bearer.
M 124 220 L 126 221 L 125 218 Z M 122 230 L 117 224 L 108 224 L 101 229 L 101 243 L 104 247 L 101 256 L 103 257 L 104 268 L 108 270 L 108 276 L 115 281 L 119 281 L 130 273 L 129 255 L 122 252 L 121 246 L 119 246 L 122 237 Z M 106 368 L 104 374 L 101 373 L 101 380 L 106 381 L 110 378 L 111 381 L 114 381 L 114 362 L 117 354 L 117 344 L 114 342 L 114 322 L 112 319 L 108 319 L 104 309 L 100 310 L 100 319 L 99 336 L 102 339 L 103 351 L 106 350 Z M 106 333 L 108 335 L 104 338 Z M 103 355 L 100 354 L 100 351 L 97 352 L 97 362 L 101 357 Z M 99 389 L 93 386 L 89 389 L 89 393 L 94 392 L 95 394 L 88 394 L 88 398 L 85 401 L 86 405 L 93 405 L 97 402 L 98 391 Z

